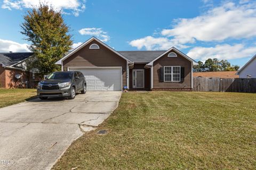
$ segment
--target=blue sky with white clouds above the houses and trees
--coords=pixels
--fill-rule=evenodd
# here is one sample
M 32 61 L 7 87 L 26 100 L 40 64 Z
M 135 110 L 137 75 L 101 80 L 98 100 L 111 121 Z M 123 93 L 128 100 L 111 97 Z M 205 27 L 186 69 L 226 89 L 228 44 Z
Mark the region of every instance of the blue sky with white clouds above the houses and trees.
M 19 32 L 36 0 L 0 2 L 0 52 L 27 51 Z M 217 57 L 242 66 L 256 54 L 256 1 L 48 0 L 73 34 L 74 47 L 91 36 L 115 50 L 177 47 L 195 60 Z

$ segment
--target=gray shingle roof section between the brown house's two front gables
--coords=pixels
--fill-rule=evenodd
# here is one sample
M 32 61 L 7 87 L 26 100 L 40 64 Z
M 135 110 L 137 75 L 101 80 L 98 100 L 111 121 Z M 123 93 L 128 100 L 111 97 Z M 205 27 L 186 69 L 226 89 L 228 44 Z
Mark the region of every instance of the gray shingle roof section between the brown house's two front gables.
M 134 63 L 149 63 L 164 52 L 166 51 L 118 51 L 118 53 L 122 54 Z

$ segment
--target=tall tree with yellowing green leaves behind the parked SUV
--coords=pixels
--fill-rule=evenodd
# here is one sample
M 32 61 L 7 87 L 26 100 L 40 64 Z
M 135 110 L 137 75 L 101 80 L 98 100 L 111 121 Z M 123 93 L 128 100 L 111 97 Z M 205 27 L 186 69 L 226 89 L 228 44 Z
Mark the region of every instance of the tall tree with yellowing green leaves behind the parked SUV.
M 25 21 L 21 24 L 21 33 L 26 36 L 25 40 L 30 41 L 29 49 L 36 56 L 33 66 L 42 76 L 58 70 L 55 62 L 73 44 L 61 11 L 55 11 L 52 6 L 40 3 L 27 11 L 23 19 Z

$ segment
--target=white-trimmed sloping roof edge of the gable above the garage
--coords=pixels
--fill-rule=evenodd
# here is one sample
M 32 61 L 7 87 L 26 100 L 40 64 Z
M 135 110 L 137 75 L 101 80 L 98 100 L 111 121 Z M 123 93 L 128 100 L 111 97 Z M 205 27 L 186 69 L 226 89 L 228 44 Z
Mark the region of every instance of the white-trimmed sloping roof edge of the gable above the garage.
M 117 54 L 118 56 L 124 58 L 124 60 L 131 62 L 128 58 L 126 58 L 125 56 L 123 56 L 122 54 L 118 53 L 116 50 L 114 50 L 113 48 L 109 47 L 108 45 L 106 45 L 105 43 L 103 43 L 101 40 L 99 40 L 98 38 L 92 37 L 89 40 L 85 41 L 85 43 L 79 45 L 77 48 L 75 48 L 74 50 L 72 50 L 70 53 L 68 53 L 66 56 L 62 57 L 58 62 L 56 62 L 55 64 L 61 64 L 62 61 L 64 61 L 66 58 L 68 58 L 69 56 L 71 56 L 72 54 L 76 53 L 78 50 L 82 49 L 84 46 L 86 46 L 87 44 L 89 44 L 91 41 L 97 41 L 98 43 L 100 43 L 101 45 L 107 47 L 109 50 L 111 50 L 112 52 L 114 52 L 115 54 Z

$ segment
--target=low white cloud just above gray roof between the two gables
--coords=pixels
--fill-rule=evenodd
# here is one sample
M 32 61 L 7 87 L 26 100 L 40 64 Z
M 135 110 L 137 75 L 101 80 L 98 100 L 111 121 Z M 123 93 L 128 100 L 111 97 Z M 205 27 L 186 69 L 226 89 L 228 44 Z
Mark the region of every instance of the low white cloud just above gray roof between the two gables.
M 167 50 L 173 46 L 177 48 L 188 47 L 166 37 L 154 38 L 151 36 L 132 40 L 129 42 L 129 44 L 133 47 L 137 47 L 138 49 L 146 48 L 146 50 Z

